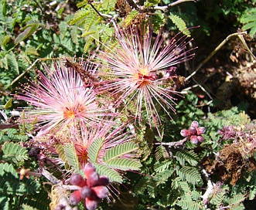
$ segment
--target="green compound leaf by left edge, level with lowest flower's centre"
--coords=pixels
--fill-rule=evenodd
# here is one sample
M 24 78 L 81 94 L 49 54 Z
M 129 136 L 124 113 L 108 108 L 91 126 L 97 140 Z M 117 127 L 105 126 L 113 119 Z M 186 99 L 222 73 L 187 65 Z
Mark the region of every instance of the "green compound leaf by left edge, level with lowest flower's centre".
M 4 155 L 2 158 L 6 161 L 12 161 L 15 164 L 26 161 L 29 159 L 28 151 L 20 144 L 14 144 L 13 142 L 5 142 L 2 147 Z

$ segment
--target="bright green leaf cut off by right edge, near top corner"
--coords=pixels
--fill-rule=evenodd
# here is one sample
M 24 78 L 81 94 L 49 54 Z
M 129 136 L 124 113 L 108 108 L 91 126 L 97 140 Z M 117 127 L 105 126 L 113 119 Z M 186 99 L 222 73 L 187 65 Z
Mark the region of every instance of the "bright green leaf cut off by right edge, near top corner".
M 243 30 L 250 29 L 251 37 L 254 37 L 256 34 L 256 8 L 248 8 L 241 15 L 240 21 L 244 24 L 242 27 Z

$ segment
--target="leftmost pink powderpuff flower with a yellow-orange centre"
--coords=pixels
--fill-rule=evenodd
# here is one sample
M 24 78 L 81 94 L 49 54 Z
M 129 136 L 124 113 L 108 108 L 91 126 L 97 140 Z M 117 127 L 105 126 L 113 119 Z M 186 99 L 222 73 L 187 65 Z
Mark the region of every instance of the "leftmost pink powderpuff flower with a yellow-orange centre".
M 94 71 L 90 65 L 84 65 L 84 68 L 88 72 Z M 53 129 L 61 130 L 65 125 L 90 126 L 101 121 L 98 117 L 107 115 L 98 107 L 92 87 L 84 87 L 75 69 L 54 63 L 54 70 L 44 66 L 37 80 L 23 86 L 22 93 L 16 93 L 15 97 L 32 105 L 26 109 L 25 121 L 36 120 L 40 135 Z

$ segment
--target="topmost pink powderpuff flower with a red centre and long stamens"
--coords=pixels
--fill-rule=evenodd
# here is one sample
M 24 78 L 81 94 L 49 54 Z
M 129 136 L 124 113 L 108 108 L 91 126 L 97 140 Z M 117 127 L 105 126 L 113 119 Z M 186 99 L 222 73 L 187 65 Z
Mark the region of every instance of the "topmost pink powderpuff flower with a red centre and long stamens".
M 177 93 L 167 83 L 172 77 L 172 69 L 175 69 L 172 66 L 193 58 L 194 54 L 193 49 L 187 49 L 191 41 L 187 36 L 179 39 L 176 36 L 165 45 L 162 31 L 155 39 L 152 37 L 152 29 L 149 32 L 144 29 L 142 33 L 140 36 L 138 30 L 133 32 L 130 28 L 127 32 L 118 27 L 118 48 L 109 49 L 98 56 L 104 68 L 109 69 L 108 75 L 114 76 L 101 86 L 100 91 L 111 91 L 111 95 L 116 98 L 115 107 L 136 100 L 135 117 L 138 121 L 142 120 L 142 109 L 145 109 L 150 127 L 153 122 L 158 129 L 161 120 L 155 103 L 159 103 L 169 117 L 166 106 L 175 112 L 172 104 L 176 103 L 172 95 Z

